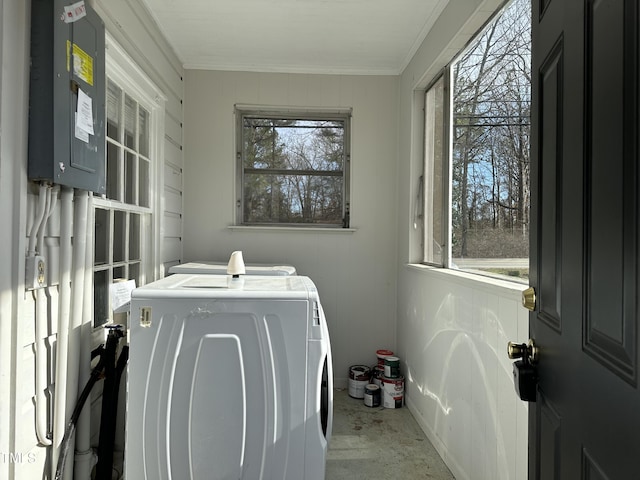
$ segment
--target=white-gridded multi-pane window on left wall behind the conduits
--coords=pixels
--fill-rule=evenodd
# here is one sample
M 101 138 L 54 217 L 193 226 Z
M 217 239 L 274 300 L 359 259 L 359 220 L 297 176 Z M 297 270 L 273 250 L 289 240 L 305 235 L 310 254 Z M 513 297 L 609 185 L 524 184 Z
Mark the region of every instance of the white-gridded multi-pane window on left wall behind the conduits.
M 151 113 L 124 82 L 107 80 L 107 192 L 94 199 L 94 327 L 112 319 L 109 288 L 145 283 L 151 230 Z

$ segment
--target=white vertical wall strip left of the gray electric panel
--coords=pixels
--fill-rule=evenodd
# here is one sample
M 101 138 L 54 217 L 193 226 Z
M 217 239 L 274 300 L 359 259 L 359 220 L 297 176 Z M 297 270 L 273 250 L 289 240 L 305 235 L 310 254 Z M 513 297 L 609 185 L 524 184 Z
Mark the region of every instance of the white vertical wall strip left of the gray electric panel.
M 28 102 L 28 2 L 0 2 L 0 478 L 39 478 L 45 461 L 34 448 L 29 387 L 33 343 L 22 306 L 26 242 L 26 131 Z M 21 261 L 22 260 L 22 261 Z M 22 287 L 22 288 L 20 288 Z M 32 327 L 31 327 L 32 328 Z M 31 330 L 32 331 L 32 330 Z M 31 429 L 29 436 L 22 431 Z M 14 457 L 11 459 L 10 455 Z M 13 461 L 12 461 L 13 460 Z

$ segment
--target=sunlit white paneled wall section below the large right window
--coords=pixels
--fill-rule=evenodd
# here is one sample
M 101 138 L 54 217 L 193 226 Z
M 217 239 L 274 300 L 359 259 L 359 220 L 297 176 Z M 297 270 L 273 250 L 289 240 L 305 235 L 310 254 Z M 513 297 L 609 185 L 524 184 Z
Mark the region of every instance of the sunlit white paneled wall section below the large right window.
M 458 480 L 526 478 L 527 403 L 507 357 L 508 341 L 529 338 L 524 286 L 405 270 L 398 348 L 407 405 Z

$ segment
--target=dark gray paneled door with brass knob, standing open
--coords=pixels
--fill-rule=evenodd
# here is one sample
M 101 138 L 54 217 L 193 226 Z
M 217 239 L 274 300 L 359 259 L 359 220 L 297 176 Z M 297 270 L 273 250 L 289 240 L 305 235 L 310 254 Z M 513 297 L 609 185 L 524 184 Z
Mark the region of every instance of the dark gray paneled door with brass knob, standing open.
M 530 479 L 640 478 L 638 11 L 533 1 Z

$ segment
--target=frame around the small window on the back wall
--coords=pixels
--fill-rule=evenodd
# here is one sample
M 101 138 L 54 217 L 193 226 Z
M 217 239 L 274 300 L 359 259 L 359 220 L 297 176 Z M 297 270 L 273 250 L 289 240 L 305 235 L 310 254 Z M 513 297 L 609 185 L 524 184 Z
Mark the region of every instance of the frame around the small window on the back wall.
M 351 197 L 351 108 L 294 108 L 275 106 L 234 106 L 235 115 L 235 226 L 274 227 L 274 228 L 326 228 L 348 229 L 350 227 L 350 197 Z M 342 223 L 287 223 L 287 222 L 248 222 L 244 218 L 244 119 L 264 118 L 282 120 L 338 120 L 344 122 L 342 169 Z M 308 170 L 310 174 L 315 173 Z

